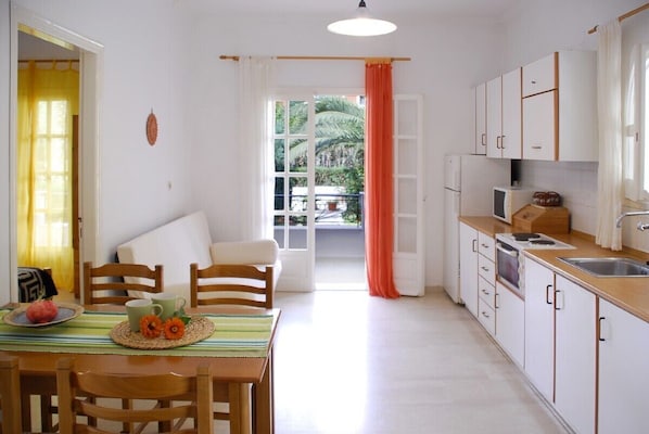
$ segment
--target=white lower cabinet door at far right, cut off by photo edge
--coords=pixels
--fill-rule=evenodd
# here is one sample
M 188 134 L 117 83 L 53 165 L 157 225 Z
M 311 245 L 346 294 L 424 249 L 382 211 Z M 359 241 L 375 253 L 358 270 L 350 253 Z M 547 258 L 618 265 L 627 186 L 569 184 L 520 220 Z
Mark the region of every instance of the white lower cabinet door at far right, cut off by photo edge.
M 598 434 L 649 430 L 649 323 L 599 299 Z

